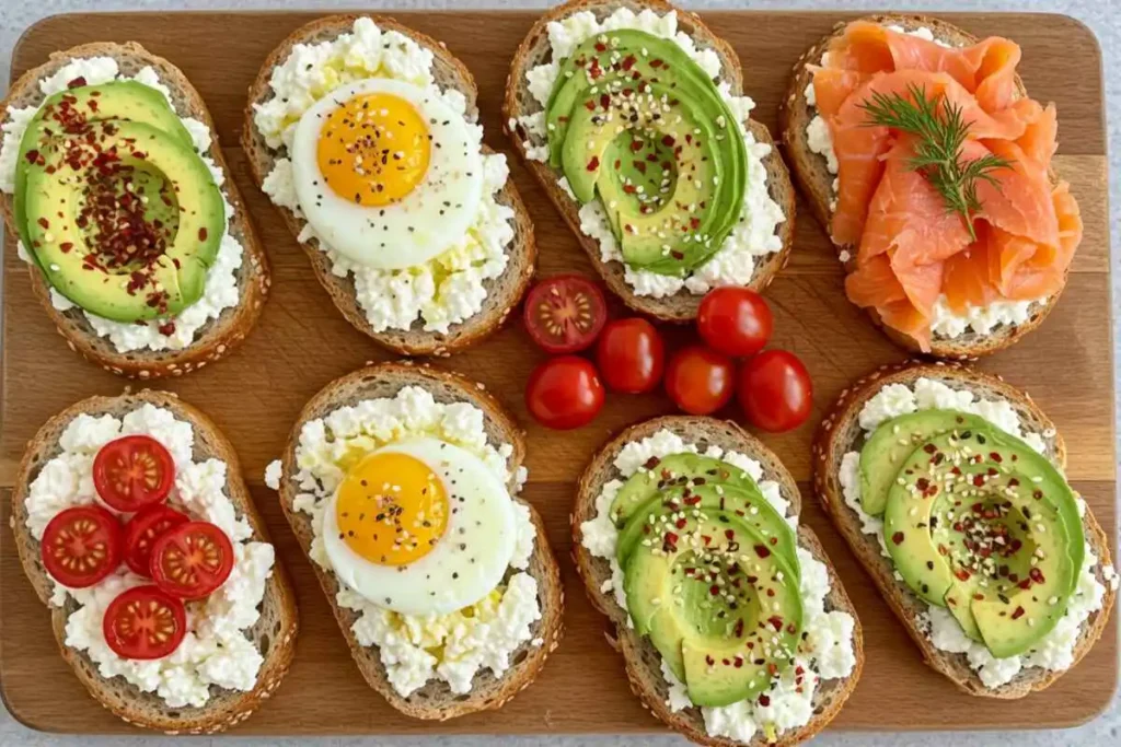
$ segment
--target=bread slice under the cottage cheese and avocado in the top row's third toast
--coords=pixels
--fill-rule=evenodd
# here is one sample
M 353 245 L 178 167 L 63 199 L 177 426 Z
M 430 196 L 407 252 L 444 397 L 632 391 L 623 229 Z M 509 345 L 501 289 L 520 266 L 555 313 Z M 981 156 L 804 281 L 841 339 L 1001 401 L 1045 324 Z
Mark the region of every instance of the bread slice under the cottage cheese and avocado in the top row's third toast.
M 601 259 L 599 242 L 580 230 L 580 204 L 558 184 L 564 174 L 550 168 L 548 164 L 543 164 L 527 157 L 526 142 L 532 141 L 534 136 L 517 124 L 517 118 L 540 111 L 540 104 L 537 103 L 537 100 L 529 92 L 526 73 L 538 65 L 550 62 L 553 58 L 548 37 L 549 22 L 580 11 L 593 12 L 596 18 L 602 19 L 614 12 L 618 8 L 629 8 L 634 12 L 650 9 L 660 15 L 676 11 L 678 29 L 692 37 L 696 41 L 697 48 L 712 49 L 720 57 L 722 81 L 726 81 L 730 84 L 732 95 L 743 95 L 743 69 L 740 67 L 740 58 L 736 56 L 735 50 L 705 26 L 695 13 L 675 8 L 665 0 L 569 0 L 553 8 L 537 19 L 529 34 L 526 35 L 521 46 L 518 47 L 518 52 L 510 65 L 510 75 L 506 84 L 506 102 L 502 109 L 503 127 L 513 142 L 515 149 L 521 156 L 529 170 L 532 171 L 534 176 L 537 177 L 545 194 L 553 200 L 553 204 L 572 230 L 573 235 L 587 253 L 596 272 L 606 282 L 608 288 L 636 311 L 665 321 L 688 321 L 696 318 L 697 307 L 700 307 L 703 296 L 692 293 L 687 289 L 682 289 L 674 296 L 665 298 L 638 296 L 634 293 L 633 289 L 623 279 L 624 269 L 622 263 L 604 262 Z M 773 140 L 766 125 L 754 120 L 749 120 L 744 124 L 757 141 L 773 146 Z M 540 146 L 543 142 L 534 141 L 532 144 Z M 770 155 L 763 159 L 763 166 L 767 168 L 768 192 L 771 199 L 782 208 L 786 221 L 779 225 L 782 249 L 758 258 L 759 261 L 749 287 L 759 291 L 770 284 L 778 271 L 790 259 L 795 222 L 794 186 L 790 183 L 790 175 L 782 162 L 778 148 L 771 148 Z

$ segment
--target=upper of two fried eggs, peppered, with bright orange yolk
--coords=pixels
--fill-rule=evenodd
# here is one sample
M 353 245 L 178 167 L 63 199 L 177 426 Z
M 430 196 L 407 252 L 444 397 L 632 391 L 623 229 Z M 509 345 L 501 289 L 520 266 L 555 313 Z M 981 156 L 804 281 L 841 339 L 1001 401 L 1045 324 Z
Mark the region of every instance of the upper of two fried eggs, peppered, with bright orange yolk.
M 427 262 L 466 234 L 483 197 L 482 130 L 432 86 L 367 78 L 296 125 L 296 196 L 327 248 L 364 267 Z

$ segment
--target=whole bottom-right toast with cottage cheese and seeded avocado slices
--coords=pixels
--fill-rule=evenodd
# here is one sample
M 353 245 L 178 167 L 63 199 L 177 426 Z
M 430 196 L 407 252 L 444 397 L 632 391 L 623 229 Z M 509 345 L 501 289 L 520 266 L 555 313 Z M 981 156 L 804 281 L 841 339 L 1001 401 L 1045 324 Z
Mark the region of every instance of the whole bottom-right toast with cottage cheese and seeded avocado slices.
M 989 698 L 1054 683 L 1105 629 L 1109 539 L 1027 394 L 958 365 L 889 366 L 845 390 L 814 485 L 935 671 Z

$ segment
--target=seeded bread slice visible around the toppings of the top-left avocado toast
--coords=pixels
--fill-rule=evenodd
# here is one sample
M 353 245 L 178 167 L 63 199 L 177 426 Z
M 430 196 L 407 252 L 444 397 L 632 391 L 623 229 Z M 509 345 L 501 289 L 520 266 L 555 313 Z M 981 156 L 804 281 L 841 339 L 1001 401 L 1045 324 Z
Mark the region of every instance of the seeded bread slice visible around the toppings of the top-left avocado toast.
M 142 67 L 150 66 L 156 71 L 160 82 L 172 91 L 172 105 L 179 116 L 193 116 L 206 124 L 211 134 L 211 147 L 204 155 L 212 158 L 222 172 L 226 175 L 222 192 L 225 193 L 234 215 L 230 223 L 230 234 L 237 239 L 244 254 L 241 268 L 238 270 L 238 305 L 224 309 L 216 319 L 207 321 L 195 333 L 194 342 L 179 351 L 140 349 L 121 353 L 108 338 L 101 337 L 85 318 L 80 308 L 59 311 L 50 302 L 50 287 L 43 273 L 34 264 L 29 264 L 31 288 L 43 302 L 47 315 L 66 339 L 66 344 L 84 358 L 96 363 L 105 371 L 128 376 L 129 379 L 157 379 L 160 376 L 182 376 L 213 363 L 232 351 L 249 334 L 261 315 L 261 307 L 269 292 L 269 267 L 265 249 L 257 237 L 245 211 L 238 185 L 233 179 L 225 157 L 222 155 L 217 130 L 203 102 L 202 96 L 191 81 L 175 65 L 158 57 L 139 44 L 114 44 L 110 41 L 84 44 L 78 47 L 56 52 L 38 67 L 29 69 L 12 84 L 8 97 L 0 102 L 0 122 L 8 119 L 8 109 L 34 106 L 43 103 L 45 96 L 39 91 L 39 81 L 53 75 L 67 63 L 82 57 L 112 57 L 120 66 L 121 74 L 136 75 Z M 19 236 L 16 228 L 12 196 L 0 193 L 0 212 L 3 213 L 8 235 Z M 15 244 L 8 248 L 16 251 Z

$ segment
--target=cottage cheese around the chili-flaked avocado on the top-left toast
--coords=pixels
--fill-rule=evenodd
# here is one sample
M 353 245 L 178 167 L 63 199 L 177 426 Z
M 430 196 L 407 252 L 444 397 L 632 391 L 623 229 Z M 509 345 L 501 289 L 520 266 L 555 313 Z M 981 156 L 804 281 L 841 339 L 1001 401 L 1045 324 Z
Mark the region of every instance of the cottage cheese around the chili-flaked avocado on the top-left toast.
M 173 109 L 175 106 L 170 90 L 160 82 L 155 69 L 142 67 L 135 76 L 129 78 L 129 76 L 120 72 L 117 60 L 112 57 L 89 57 L 67 63 L 54 75 L 40 81 L 39 90 L 44 96 L 49 96 L 59 91 L 65 91 L 67 82 L 76 77 L 84 77 L 89 85 L 98 85 L 118 78 L 132 80 L 156 88 L 167 97 Z M 3 140 L 0 142 L 0 192 L 11 194 L 16 187 L 16 161 L 19 159 L 19 141 L 24 138 L 27 125 L 38 110 L 38 106 L 9 109 L 8 121 L 0 125 L 0 131 L 3 132 Z M 222 185 L 225 184 L 225 174 L 212 158 L 206 156 L 212 144 L 210 128 L 204 122 L 194 118 L 180 116 L 179 120 L 191 134 L 195 150 L 202 155 L 203 162 L 206 164 L 206 168 L 214 178 L 214 184 L 221 189 Z M 118 352 L 183 349 L 194 342 L 198 330 L 210 320 L 217 319 L 222 316 L 222 311 L 238 305 L 238 299 L 240 298 L 238 270 L 244 261 L 244 248 L 230 233 L 230 225 L 234 220 L 234 211 L 233 206 L 230 205 L 224 189 L 222 190 L 222 199 L 225 203 L 225 231 L 222 234 L 222 241 L 219 244 L 214 264 L 206 272 L 206 284 L 203 295 L 197 301 L 174 317 L 146 323 L 113 321 L 90 314 L 89 311 L 83 311 L 94 332 L 101 337 L 108 338 Z M 25 261 L 34 261 L 22 245 L 18 245 L 17 253 Z M 59 311 L 67 311 L 74 308 L 73 302 L 53 288 L 50 289 L 50 302 Z M 168 321 L 174 324 L 167 326 Z M 165 328 L 165 332 L 159 330 L 161 326 Z

